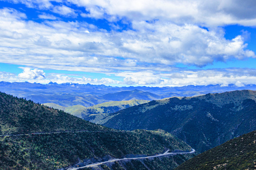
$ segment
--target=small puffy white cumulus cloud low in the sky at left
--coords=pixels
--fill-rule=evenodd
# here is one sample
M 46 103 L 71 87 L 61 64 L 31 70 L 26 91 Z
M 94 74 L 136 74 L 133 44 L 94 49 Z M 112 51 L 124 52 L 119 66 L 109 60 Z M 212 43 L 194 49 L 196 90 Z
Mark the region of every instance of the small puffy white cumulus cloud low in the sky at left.
M 46 73 L 44 73 L 43 70 L 39 69 L 30 69 L 30 68 L 24 68 L 23 72 L 18 74 L 18 77 L 21 79 L 45 79 Z

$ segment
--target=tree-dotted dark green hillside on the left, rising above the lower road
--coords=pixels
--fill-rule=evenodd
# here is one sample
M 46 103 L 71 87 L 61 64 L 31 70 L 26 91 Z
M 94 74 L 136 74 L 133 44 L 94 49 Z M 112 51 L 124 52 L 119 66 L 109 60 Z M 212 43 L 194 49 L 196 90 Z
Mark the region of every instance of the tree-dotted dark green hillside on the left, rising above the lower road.
M 0 93 L 0 106 L 1 170 L 54 170 L 87 159 L 102 160 L 106 155 L 121 158 L 126 154 L 152 155 L 166 149 L 191 150 L 165 131 L 114 130 L 5 93 Z M 190 157 L 166 159 L 174 168 Z M 153 169 L 165 166 L 161 160 L 145 161 Z

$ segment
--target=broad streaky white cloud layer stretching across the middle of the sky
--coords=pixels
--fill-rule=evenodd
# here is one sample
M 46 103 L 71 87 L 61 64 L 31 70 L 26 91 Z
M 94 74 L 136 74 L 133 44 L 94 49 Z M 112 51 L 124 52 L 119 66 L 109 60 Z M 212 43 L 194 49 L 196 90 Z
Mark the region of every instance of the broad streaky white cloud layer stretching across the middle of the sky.
M 241 35 L 227 40 L 221 30 L 196 25 L 134 21 L 135 30 L 104 32 L 87 23 L 36 23 L 23 18 L 26 15 L 15 9 L 0 9 L 1 61 L 108 72 L 143 70 L 146 63 L 201 67 L 213 61 L 255 57 L 253 51 L 246 50 Z

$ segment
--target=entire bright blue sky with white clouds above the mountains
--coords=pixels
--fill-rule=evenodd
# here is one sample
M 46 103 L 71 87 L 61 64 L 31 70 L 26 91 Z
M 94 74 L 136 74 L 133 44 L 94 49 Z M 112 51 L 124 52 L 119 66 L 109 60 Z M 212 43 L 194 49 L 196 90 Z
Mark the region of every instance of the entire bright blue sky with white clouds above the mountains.
M 256 84 L 256 0 L 0 0 L 0 81 Z

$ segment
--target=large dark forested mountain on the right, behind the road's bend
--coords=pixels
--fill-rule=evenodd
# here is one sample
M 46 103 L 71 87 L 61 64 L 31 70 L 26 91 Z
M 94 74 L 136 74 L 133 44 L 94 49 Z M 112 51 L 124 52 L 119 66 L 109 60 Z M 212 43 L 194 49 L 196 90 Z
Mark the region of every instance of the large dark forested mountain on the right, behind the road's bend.
M 151 101 L 110 114 L 104 126 L 164 129 L 204 152 L 256 129 L 256 91 Z

